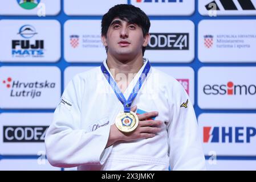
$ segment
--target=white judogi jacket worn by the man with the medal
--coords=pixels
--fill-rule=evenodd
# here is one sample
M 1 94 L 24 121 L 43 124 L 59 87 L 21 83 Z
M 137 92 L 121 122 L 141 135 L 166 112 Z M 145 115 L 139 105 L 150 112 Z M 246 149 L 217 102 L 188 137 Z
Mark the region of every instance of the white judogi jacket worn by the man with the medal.
M 108 69 L 106 61 L 105 67 Z M 141 72 L 133 78 L 128 99 Z M 109 70 L 108 70 L 109 71 Z M 110 73 L 110 72 L 109 72 Z M 188 107 L 182 106 L 188 100 Z M 48 161 L 79 170 L 200 170 L 205 158 L 192 102 L 173 77 L 151 67 L 132 106 L 158 111 L 161 131 L 153 138 L 105 148 L 110 126 L 124 110 L 100 67 L 79 73 L 67 85 L 46 138 Z

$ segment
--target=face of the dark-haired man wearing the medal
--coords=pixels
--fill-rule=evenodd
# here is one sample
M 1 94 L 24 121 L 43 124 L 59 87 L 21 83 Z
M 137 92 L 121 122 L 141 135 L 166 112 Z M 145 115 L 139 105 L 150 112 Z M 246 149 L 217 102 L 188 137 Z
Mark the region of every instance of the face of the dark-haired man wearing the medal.
M 128 23 L 119 18 L 112 20 L 107 37 L 101 36 L 104 46 L 108 47 L 108 56 L 117 59 L 132 59 L 142 56 L 142 47 L 147 46 L 149 34 L 143 36 L 143 31 L 135 23 Z

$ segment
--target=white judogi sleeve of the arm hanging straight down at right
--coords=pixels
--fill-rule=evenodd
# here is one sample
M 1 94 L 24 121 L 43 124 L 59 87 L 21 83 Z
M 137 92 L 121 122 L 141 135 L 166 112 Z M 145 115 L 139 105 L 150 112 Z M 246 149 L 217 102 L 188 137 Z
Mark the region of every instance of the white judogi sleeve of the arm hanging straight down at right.
M 185 89 L 174 81 L 169 90 L 171 121 L 168 126 L 171 170 L 204 170 L 205 157 L 193 104 Z

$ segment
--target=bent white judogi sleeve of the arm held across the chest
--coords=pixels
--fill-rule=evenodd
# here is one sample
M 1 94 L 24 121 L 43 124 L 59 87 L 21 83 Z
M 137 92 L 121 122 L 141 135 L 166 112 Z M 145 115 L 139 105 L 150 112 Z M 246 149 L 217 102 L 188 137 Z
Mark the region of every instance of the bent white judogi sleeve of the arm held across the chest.
M 99 164 L 109 137 L 109 126 L 95 131 L 80 129 L 85 81 L 76 75 L 64 90 L 45 138 L 47 159 L 52 166 L 76 167 Z M 86 121 L 83 121 L 86 122 Z

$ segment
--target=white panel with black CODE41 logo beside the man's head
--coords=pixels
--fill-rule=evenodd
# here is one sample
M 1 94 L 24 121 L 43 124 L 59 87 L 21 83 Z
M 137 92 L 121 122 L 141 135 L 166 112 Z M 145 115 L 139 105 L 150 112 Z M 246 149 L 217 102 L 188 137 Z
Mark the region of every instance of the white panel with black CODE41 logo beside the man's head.
M 152 63 L 194 60 L 194 23 L 190 20 L 151 20 L 151 39 L 145 51 Z

